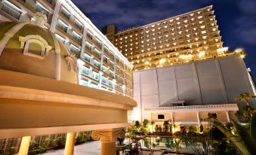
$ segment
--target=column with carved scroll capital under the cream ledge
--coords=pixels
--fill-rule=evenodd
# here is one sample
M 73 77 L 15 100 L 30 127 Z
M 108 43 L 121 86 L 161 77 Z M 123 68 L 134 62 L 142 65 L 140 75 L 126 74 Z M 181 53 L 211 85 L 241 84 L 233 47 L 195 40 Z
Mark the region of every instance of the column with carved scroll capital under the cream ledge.
M 101 155 L 116 155 L 116 138 L 125 138 L 125 131 L 123 129 L 93 131 L 91 138 L 100 139 Z

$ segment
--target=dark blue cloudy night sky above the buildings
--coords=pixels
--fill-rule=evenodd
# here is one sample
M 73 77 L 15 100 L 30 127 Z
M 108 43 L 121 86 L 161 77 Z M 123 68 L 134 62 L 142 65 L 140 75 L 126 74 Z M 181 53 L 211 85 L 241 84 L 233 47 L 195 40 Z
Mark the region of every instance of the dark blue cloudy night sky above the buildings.
M 224 47 L 243 47 L 245 63 L 256 78 L 255 0 L 72 0 L 101 29 L 115 24 L 119 30 L 143 26 L 168 17 L 213 5 Z

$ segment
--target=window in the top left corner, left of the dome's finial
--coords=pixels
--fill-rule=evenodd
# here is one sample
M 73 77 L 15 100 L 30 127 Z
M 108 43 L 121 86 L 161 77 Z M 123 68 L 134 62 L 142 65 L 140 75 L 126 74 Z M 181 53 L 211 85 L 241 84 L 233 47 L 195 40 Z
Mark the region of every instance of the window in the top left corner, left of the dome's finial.
M 10 14 L 12 17 L 16 18 L 17 20 L 20 19 L 21 14 L 23 13 L 20 8 L 17 8 L 15 5 L 11 4 L 11 2 L 4 1 L 2 6 L 2 11 L 5 13 Z

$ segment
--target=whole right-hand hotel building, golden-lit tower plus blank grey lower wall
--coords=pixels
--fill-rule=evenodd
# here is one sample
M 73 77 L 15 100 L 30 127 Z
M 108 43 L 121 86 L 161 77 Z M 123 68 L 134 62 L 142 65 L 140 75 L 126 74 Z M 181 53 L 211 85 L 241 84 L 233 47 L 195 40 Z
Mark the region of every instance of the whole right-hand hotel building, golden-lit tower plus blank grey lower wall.
M 180 129 L 207 123 L 208 114 L 227 122 L 236 119 L 234 98 L 255 94 L 245 51 L 223 47 L 212 6 L 122 31 L 109 25 L 102 32 L 134 65 L 137 108 L 131 120 L 170 120 Z

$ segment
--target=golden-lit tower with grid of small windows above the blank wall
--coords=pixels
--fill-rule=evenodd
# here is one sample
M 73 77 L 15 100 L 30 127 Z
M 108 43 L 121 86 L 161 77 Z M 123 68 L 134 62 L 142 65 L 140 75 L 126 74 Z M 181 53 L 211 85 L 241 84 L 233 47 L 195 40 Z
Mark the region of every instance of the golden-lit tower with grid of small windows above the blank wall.
M 114 33 L 105 28 L 134 69 L 174 65 L 221 56 L 224 51 L 212 6 Z M 109 31 L 108 31 L 109 30 Z

